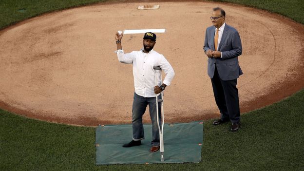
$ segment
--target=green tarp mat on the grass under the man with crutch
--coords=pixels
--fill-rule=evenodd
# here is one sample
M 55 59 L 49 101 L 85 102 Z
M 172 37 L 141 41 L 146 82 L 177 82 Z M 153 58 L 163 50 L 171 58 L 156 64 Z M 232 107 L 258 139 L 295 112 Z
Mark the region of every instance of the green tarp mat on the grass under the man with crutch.
M 164 125 L 164 159 L 160 152 L 150 152 L 152 125 L 144 125 L 141 146 L 123 148 L 132 140 L 132 125 L 105 125 L 96 128 L 96 165 L 200 162 L 203 122 Z

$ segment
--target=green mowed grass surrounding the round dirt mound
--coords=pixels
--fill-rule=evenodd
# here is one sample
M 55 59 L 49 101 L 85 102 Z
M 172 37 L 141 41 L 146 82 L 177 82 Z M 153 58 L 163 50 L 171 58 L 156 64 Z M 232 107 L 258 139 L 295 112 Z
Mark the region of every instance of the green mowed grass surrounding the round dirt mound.
M 100 0 L 0 0 L 0 28 L 39 14 Z M 225 0 L 304 23 L 303 0 Z M 204 125 L 202 161 L 185 164 L 95 166 L 95 128 L 47 123 L 0 110 L 0 171 L 304 171 L 304 90 L 242 115 Z

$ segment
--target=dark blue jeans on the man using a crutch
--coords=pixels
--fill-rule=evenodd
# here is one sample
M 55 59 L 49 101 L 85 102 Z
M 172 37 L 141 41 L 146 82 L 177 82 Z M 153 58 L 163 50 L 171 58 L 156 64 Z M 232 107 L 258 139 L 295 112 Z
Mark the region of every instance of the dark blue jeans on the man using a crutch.
M 161 99 L 161 95 L 157 97 Z M 156 117 L 156 99 L 155 97 L 143 97 L 134 93 L 132 107 L 132 127 L 133 140 L 139 141 L 145 139 L 142 116 L 145 114 L 146 108 L 149 105 L 149 112 L 152 121 L 152 146 L 159 146 L 159 132 Z M 161 103 L 158 103 L 159 124 L 161 124 Z

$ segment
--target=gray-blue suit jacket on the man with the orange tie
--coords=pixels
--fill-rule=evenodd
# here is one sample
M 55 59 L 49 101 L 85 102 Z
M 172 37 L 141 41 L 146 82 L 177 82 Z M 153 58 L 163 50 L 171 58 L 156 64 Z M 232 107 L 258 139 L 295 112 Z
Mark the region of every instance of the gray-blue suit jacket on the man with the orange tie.
M 215 27 L 208 27 L 206 30 L 204 51 L 214 51 Z M 218 47 L 222 52 L 222 58 L 208 58 L 208 75 L 214 76 L 215 64 L 218 74 L 222 80 L 233 80 L 243 74 L 238 61 L 238 56 L 242 54 L 242 42 L 237 30 L 228 24 L 225 25 L 224 32 Z

